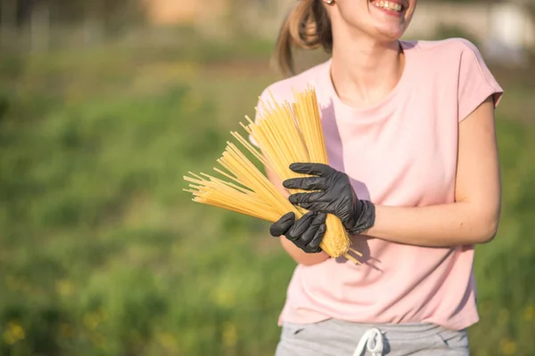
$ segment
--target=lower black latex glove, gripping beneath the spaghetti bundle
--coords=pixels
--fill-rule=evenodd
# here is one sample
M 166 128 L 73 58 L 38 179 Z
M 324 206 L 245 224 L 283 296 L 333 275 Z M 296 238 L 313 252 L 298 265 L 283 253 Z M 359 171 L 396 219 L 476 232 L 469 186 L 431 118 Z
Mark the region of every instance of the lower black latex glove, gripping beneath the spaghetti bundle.
M 269 233 L 273 237 L 284 235 L 301 250 L 315 254 L 321 252 L 319 244 L 327 230 L 326 217 L 327 215 L 323 213 L 309 212 L 296 221 L 295 214 L 288 213 L 271 225 Z

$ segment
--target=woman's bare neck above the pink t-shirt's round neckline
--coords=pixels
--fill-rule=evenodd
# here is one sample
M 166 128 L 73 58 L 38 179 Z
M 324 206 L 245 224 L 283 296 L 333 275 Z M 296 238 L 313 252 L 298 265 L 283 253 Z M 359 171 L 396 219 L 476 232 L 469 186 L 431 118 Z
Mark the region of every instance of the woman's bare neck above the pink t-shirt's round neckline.
M 405 66 L 399 42 L 377 43 L 361 35 L 335 37 L 331 77 L 340 99 L 366 107 L 381 101 L 398 84 Z M 339 44 L 339 45 L 337 45 Z

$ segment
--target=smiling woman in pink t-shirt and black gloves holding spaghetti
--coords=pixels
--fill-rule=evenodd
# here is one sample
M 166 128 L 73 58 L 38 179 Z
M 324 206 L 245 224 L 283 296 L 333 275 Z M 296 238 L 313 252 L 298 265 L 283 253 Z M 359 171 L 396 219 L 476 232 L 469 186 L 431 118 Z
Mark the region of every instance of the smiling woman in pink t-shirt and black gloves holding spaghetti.
M 466 355 L 478 321 L 473 246 L 496 234 L 500 179 L 494 109 L 502 89 L 464 39 L 401 41 L 417 0 L 300 0 L 278 39 L 332 58 L 270 85 L 276 101 L 313 85 L 329 166 L 280 182 L 311 212 L 271 226 L 298 263 L 280 316 L 278 356 Z M 261 109 L 261 108 L 260 108 Z M 319 248 L 325 213 L 362 265 Z

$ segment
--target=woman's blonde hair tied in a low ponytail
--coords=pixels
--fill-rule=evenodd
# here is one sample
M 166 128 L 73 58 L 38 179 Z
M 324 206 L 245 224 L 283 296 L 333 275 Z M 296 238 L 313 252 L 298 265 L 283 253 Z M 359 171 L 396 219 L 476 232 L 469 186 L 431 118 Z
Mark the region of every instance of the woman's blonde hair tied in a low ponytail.
M 333 50 L 331 20 L 321 0 L 298 0 L 286 16 L 276 40 L 275 56 L 285 76 L 295 74 L 292 47 Z

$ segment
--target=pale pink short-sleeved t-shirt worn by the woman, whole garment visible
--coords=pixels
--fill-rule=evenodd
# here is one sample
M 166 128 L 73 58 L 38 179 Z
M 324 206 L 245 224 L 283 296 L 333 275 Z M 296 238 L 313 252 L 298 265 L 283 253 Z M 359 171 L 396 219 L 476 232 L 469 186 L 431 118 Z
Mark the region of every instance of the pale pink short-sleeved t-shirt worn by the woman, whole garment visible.
M 329 164 L 348 174 L 359 198 L 383 206 L 431 206 L 455 200 L 458 124 L 502 89 L 464 39 L 401 42 L 406 67 L 383 101 L 366 109 L 334 91 L 330 61 L 270 85 L 261 99 L 292 101 L 313 85 Z M 473 247 L 414 247 L 352 237 L 364 264 L 329 258 L 298 265 L 279 323 L 329 318 L 361 323 L 428 322 L 451 329 L 479 320 Z

